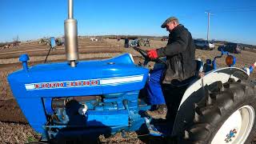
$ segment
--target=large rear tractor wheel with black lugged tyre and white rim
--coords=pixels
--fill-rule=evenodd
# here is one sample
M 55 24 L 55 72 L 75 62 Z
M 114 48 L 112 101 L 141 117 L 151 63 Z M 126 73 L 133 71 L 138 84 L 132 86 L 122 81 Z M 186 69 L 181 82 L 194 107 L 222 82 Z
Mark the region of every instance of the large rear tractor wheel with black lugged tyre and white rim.
M 256 126 L 256 86 L 230 79 L 205 89 L 206 96 L 194 104 L 194 120 L 187 124 L 179 143 L 252 143 Z

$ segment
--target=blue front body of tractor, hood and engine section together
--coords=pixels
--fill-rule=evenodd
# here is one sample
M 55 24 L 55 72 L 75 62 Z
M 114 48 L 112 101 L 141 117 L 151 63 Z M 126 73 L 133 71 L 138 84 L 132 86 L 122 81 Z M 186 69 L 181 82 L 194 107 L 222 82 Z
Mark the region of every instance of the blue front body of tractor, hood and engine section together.
M 123 54 L 78 62 L 75 68 L 66 62 L 31 66 L 10 74 L 8 81 L 23 114 L 38 133 L 66 126 L 107 126 L 114 132 L 128 129 L 130 121 L 138 123 L 130 129 L 142 125 L 138 93 L 148 73 L 148 69 L 134 65 L 130 54 Z M 79 110 L 86 111 L 73 114 Z

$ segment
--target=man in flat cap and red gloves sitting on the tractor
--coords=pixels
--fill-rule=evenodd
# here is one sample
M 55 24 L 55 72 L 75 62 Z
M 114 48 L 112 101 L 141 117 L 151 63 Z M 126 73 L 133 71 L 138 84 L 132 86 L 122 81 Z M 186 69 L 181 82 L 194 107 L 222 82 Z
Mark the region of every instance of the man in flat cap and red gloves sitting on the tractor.
M 152 59 L 166 57 L 166 66 L 151 70 L 146 84 L 148 101 L 154 107 L 147 110 L 146 115 L 155 119 L 166 119 L 167 114 L 162 83 L 171 84 L 173 80 L 182 82 L 194 76 L 196 71 L 195 46 L 190 31 L 179 24 L 178 18 L 175 17 L 167 18 L 161 27 L 170 32 L 167 45 L 147 51 L 148 57 Z

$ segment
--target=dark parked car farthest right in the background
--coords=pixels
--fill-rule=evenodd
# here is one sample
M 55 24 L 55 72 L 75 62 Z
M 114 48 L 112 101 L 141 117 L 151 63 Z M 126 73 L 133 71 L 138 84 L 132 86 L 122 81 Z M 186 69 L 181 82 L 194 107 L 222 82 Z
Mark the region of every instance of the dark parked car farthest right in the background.
M 226 45 L 218 46 L 218 50 L 228 51 L 230 53 L 239 54 L 241 53 L 243 46 L 238 43 L 226 43 Z

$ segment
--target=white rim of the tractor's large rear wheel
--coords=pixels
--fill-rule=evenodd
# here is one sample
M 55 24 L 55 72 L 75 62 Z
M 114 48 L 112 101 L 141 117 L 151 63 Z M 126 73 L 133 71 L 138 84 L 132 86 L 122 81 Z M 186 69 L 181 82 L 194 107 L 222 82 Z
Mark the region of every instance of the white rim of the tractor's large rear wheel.
M 246 142 L 254 126 L 254 117 L 254 108 L 252 106 L 240 107 L 222 124 L 211 144 L 242 144 Z

